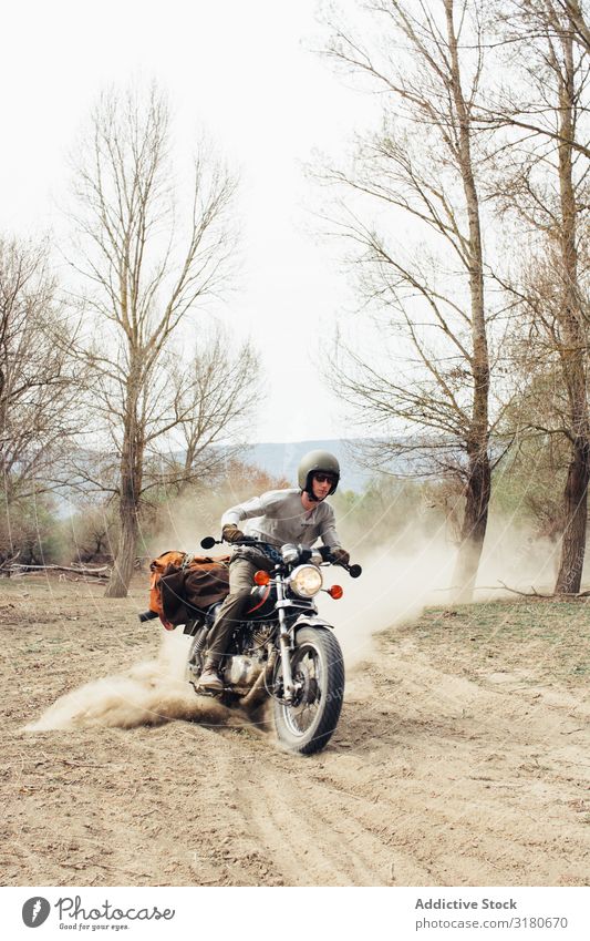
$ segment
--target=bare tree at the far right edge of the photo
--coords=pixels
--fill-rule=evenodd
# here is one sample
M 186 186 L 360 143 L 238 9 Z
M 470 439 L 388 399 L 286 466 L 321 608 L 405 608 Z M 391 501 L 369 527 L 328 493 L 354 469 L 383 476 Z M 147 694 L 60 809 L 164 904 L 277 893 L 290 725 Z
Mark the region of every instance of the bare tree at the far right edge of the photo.
M 556 583 L 562 593 L 580 590 L 590 480 L 590 164 L 577 145 L 584 122 L 588 130 L 590 59 L 583 43 L 576 41 L 571 17 L 578 14 L 581 4 L 576 2 L 526 0 L 510 4 L 505 16 L 503 37 L 509 41 L 513 65 L 520 68 L 513 73 L 509 100 L 506 91 L 501 96 L 506 124 L 514 116 L 515 134 L 503 151 L 495 194 L 505 215 L 518 215 L 522 242 L 527 238 L 531 246 L 520 277 L 509 285 L 529 326 L 529 390 L 542 388 L 538 379 L 532 381 L 539 371 L 560 377 L 559 393 L 545 400 L 542 420 L 534 403 L 532 425 L 544 434 L 565 436 L 570 451 Z M 534 136 L 521 135 L 519 117 L 532 112 L 542 120 Z

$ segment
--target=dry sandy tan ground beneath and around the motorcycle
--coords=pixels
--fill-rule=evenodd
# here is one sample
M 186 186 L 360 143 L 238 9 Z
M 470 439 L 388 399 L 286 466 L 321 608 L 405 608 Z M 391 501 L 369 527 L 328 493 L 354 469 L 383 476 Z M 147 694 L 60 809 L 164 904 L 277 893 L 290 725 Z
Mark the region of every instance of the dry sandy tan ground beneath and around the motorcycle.
M 406 625 L 349 671 L 337 734 L 301 758 L 199 715 L 184 638 L 163 657 L 144 606 L 143 583 L 108 603 L 0 584 L 3 884 L 588 884 L 587 683 L 445 658 Z M 44 717 L 60 728 L 23 730 L 76 689 Z

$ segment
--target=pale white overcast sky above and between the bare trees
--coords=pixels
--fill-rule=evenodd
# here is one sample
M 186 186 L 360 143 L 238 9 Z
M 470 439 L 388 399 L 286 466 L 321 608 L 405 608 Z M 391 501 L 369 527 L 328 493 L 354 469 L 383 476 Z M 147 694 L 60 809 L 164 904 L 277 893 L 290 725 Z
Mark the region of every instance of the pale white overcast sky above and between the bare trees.
M 187 142 L 205 127 L 240 173 L 244 275 L 222 318 L 262 356 L 252 441 L 350 434 L 317 360 L 353 298 L 335 246 L 312 237 L 318 194 L 302 164 L 348 150 L 370 104 L 310 51 L 317 0 L 20 0 L 2 12 L 3 231 L 53 228 L 100 91 L 156 78 Z

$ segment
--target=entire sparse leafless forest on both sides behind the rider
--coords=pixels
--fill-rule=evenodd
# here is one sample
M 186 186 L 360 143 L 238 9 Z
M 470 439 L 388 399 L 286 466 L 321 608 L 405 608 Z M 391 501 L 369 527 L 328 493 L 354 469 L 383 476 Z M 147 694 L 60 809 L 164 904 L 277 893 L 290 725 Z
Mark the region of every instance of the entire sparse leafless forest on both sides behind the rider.
M 361 544 L 446 525 L 457 601 L 490 509 L 560 546 L 556 592 L 581 586 L 588 22 L 578 0 L 371 0 L 324 22 L 324 60 L 381 111 L 313 182 L 360 299 L 330 382 L 374 432 L 338 509 Z M 175 146 L 155 84 L 105 91 L 72 157 L 65 280 L 49 243 L 0 243 L 4 571 L 107 565 L 124 596 L 178 513 L 211 529 L 246 484 L 292 483 L 249 467 L 258 357 L 209 314 L 237 180 L 197 142 L 178 190 Z

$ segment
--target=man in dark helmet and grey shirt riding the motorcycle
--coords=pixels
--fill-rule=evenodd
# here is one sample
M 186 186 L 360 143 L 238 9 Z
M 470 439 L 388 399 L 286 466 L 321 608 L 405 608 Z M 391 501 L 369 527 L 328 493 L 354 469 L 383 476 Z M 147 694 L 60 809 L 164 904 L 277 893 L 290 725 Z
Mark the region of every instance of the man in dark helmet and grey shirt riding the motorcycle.
M 325 498 L 335 492 L 340 481 L 340 466 L 329 451 L 310 451 L 299 464 L 298 488 L 269 490 L 245 503 L 231 507 L 221 518 L 221 533 L 226 542 L 239 542 L 245 535 L 253 536 L 280 548 L 284 543 L 300 543 L 307 548 L 321 539 L 338 562 L 348 564 L 349 553 L 342 549 L 335 530 L 334 511 Z M 238 523 L 248 520 L 244 531 Z M 272 563 L 256 546 L 238 546 L 229 563 L 229 594 L 225 599 L 208 637 L 205 666 L 199 686 L 219 692 L 224 688 L 218 674 L 219 663 L 227 650 L 234 630 L 245 613 L 252 587 L 255 572 L 271 571 Z

